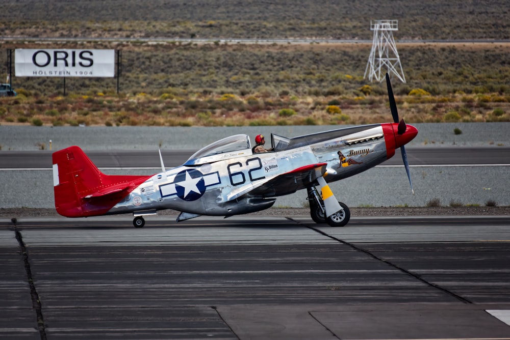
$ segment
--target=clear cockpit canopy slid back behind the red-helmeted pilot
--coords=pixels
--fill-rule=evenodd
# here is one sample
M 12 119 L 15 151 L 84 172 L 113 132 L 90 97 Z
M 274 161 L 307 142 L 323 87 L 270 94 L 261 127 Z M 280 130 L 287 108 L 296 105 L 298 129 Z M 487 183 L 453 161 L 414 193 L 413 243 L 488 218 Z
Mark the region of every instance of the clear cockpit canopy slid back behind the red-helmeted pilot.
M 184 165 L 198 165 L 217 162 L 223 159 L 251 155 L 250 138 L 246 134 L 236 134 L 217 140 L 195 152 Z

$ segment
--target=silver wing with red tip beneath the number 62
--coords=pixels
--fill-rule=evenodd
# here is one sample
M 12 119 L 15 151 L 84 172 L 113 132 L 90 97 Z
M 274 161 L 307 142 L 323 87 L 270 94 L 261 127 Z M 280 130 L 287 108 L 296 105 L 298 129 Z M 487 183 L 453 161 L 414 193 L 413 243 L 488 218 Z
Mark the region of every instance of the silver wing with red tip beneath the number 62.
M 315 163 L 298 167 L 284 174 L 266 177 L 263 180 L 252 182 L 232 190 L 224 202 L 232 201 L 249 193 L 250 196 L 273 197 L 276 194 L 284 195 L 307 187 L 322 176 L 326 171 L 327 163 Z

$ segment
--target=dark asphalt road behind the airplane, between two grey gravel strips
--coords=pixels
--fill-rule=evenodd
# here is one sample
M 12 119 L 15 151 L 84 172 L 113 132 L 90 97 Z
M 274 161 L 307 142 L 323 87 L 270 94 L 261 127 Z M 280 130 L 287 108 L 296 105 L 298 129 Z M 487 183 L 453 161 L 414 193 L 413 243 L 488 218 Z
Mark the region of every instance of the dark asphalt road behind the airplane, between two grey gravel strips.
M 196 150 L 164 150 L 166 167 L 182 165 Z M 406 148 L 411 166 L 418 165 L 490 165 L 510 164 L 508 147 L 443 147 Z M 97 167 L 108 168 L 159 168 L 157 150 L 88 151 L 87 155 Z M 381 165 L 402 165 L 399 152 Z M 0 169 L 51 168 L 50 151 L 4 151 L 0 153 Z

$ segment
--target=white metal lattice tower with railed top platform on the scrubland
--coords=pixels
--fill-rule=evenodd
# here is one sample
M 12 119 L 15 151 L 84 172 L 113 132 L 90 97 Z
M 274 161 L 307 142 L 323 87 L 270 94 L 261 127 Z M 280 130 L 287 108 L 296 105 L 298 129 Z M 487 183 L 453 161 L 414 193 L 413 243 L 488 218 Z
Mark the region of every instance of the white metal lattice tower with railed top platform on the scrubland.
M 374 31 L 374 39 L 363 77 L 368 76 L 370 81 L 374 78 L 382 81 L 388 72 L 405 82 L 400 56 L 393 39 L 393 31 L 398 31 L 398 20 L 370 20 L 370 31 Z

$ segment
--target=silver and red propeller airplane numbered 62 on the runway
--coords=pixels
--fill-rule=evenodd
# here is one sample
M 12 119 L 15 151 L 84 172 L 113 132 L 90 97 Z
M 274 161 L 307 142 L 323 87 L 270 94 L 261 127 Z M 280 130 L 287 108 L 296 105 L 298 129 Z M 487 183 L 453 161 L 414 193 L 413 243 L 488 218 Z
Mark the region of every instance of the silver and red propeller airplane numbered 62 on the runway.
M 183 165 L 151 176 L 106 175 L 78 146 L 53 153 L 55 208 L 66 217 L 179 211 L 177 221 L 201 215 L 246 214 L 270 208 L 276 197 L 307 189 L 310 216 L 316 223 L 344 226 L 350 219 L 327 183 L 384 162 L 400 148 L 413 183 L 404 145 L 418 130 L 398 119 L 386 74 L 393 123 L 352 126 L 292 138 L 271 134 L 272 151 L 254 153 L 246 134 L 228 136 L 195 152 Z

